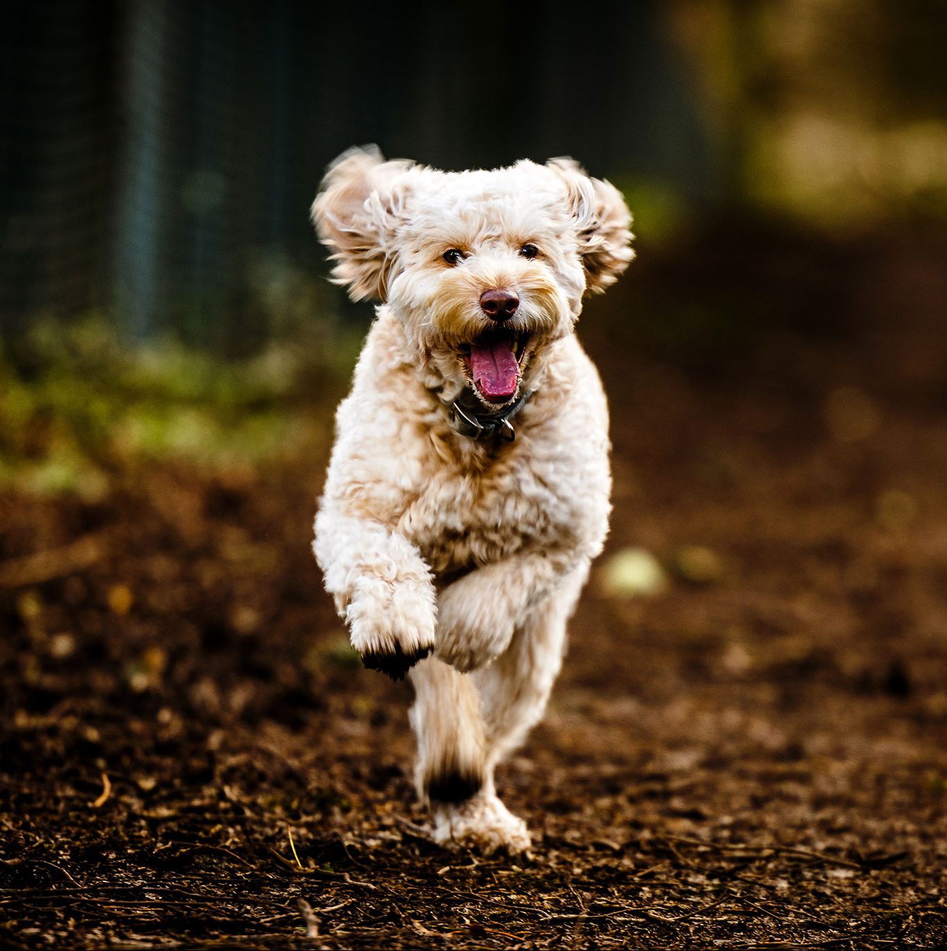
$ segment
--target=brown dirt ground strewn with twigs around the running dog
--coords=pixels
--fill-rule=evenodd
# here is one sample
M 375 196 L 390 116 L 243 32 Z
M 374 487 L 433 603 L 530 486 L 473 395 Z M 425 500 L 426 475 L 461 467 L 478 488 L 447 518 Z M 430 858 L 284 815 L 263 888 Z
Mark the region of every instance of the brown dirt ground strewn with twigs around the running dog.
M 865 270 L 875 313 L 939 280 L 912 268 Z M 531 859 L 426 838 L 410 688 L 360 669 L 309 553 L 324 446 L 0 498 L 0 943 L 943 946 L 943 300 L 716 367 L 589 320 L 601 564 L 644 548 L 670 583 L 593 574 L 498 778 Z

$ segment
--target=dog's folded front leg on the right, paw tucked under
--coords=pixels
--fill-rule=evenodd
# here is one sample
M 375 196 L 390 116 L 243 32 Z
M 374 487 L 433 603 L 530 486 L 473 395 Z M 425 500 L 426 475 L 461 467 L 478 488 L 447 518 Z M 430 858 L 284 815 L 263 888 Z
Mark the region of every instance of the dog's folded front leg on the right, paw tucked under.
M 454 581 L 438 597 L 436 656 L 461 671 L 489 664 L 579 560 L 571 552 L 520 553 Z

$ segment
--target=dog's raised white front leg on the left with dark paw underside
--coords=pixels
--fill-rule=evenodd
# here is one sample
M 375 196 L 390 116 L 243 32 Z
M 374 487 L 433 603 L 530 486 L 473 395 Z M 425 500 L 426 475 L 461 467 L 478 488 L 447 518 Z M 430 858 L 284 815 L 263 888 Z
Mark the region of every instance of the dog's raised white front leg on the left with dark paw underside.
M 400 680 L 434 648 L 436 595 L 424 559 L 402 534 L 331 504 L 316 519 L 313 547 L 365 667 Z

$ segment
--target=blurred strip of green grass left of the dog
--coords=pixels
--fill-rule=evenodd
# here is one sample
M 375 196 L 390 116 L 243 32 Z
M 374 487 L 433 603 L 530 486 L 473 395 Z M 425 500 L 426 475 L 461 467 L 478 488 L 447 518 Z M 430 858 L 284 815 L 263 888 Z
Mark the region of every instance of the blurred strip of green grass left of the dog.
M 40 321 L 0 350 L 0 489 L 95 500 L 140 463 L 233 471 L 298 456 L 326 438 L 361 336 L 322 326 L 226 359 L 131 344 L 102 316 Z

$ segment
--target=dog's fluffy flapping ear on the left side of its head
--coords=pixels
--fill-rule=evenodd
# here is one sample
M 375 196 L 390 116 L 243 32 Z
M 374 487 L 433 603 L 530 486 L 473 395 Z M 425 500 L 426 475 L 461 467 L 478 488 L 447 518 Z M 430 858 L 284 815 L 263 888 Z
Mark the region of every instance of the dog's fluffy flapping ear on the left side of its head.
M 384 301 L 404 221 L 409 185 L 399 181 L 414 163 L 385 162 L 377 146 L 351 148 L 329 166 L 312 206 L 319 240 L 332 252 L 334 283 L 353 301 Z

